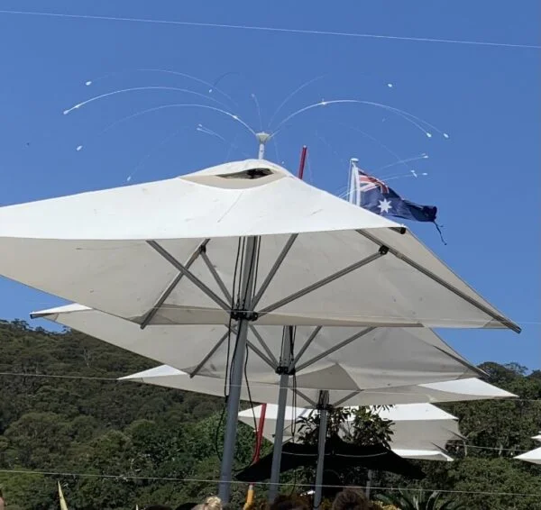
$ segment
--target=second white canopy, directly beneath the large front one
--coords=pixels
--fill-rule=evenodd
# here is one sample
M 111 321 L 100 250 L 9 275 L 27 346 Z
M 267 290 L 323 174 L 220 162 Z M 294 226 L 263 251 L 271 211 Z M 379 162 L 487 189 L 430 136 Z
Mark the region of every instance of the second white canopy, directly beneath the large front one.
M 231 347 L 226 326 L 213 326 L 214 334 L 210 336 L 205 334 L 208 329 L 197 325 L 182 326 L 181 332 L 179 326 L 141 329 L 137 324 L 81 305 L 44 311 L 40 316 L 142 356 L 167 361 L 189 374 L 225 378 L 227 354 Z M 266 388 L 269 393 L 254 393 L 254 398 L 259 402 L 276 402 L 279 383 L 276 369 L 277 358 L 280 358 L 282 328 L 253 325 L 248 332 L 248 341 L 249 348 L 254 352 L 246 366 L 248 379 L 252 384 L 261 382 L 269 385 L 260 387 L 261 392 Z M 366 332 L 362 328 L 352 327 L 299 326 L 296 328 L 295 345 L 300 346 L 295 349 L 298 352 L 298 388 L 338 392 L 346 390 L 351 393 L 369 388 L 471 378 L 481 373 L 446 345 L 436 333 L 426 328 L 376 328 Z M 307 347 L 301 352 L 304 345 Z M 336 349 L 336 346 L 341 348 Z M 182 371 L 178 374 L 182 374 Z M 139 377 L 156 376 L 165 382 L 165 386 L 169 386 L 170 380 L 165 378 L 176 373 L 164 367 L 143 372 Z M 195 382 L 198 380 L 194 378 L 193 384 L 183 383 L 188 385 L 183 389 L 223 394 L 223 384 L 218 381 L 216 386 L 222 387 L 215 392 L 197 389 Z M 271 398 L 267 399 L 266 396 L 270 395 Z

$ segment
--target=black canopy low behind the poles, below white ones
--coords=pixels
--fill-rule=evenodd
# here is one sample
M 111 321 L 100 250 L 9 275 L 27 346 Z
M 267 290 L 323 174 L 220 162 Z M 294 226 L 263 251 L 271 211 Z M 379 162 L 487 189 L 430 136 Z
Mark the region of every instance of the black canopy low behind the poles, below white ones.
M 272 454 L 266 455 L 252 466 L 237 473 L 241 481 L 257 482 L 271 477 Z M 287 442 L 282 449 L 280 471 L 300 467 L 315 467 L 317 462 L 317 445 Z M 425 474 L 408 460 L 383 446 L 357 446 L 342 439 L 333 437 L 326 441 L 326 471 L 344 470 L 344 466 L 361 466 L 366 469 L 389 471 L 408 478 L 424 478 Z

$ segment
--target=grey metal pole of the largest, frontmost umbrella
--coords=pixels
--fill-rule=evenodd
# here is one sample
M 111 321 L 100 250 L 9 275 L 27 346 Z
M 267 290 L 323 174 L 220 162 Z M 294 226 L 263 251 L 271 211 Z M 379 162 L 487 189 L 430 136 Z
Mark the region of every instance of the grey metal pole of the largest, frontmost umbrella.
M 246 239 L 244 248 L 244 269 L 241 287 L 241 296 L 238 310 L 233 310 L 232 315 L 237 321 L 237 336 L 234 345 L 234 358 L 231 366 L 231 383 L 229 397 L 227 399 L 227 418 L 225 421 L 224 454 L 222 457 L 222 469 L 220 471 L 220 487 L 218 495 L 225 503 L 229 502 L 231 481 L 233 475 L 234 446 L 238 423 L 239 404 L 241 401 L 241 387 L 243 386 L 244 359 L 246 356 L 246 343 L 248 327 L 253 320 L 252 291 L 255 277 L 255 255 L 257 237 Z

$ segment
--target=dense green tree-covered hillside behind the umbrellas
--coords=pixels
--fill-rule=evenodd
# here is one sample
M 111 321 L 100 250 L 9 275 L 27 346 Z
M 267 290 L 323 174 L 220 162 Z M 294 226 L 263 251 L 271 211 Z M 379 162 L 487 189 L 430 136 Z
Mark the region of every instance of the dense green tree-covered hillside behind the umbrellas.
M 0 372 L 26 374 L 0 376 L 0 489 L 6 510 L 58 510 L 57 481 L 70 510 L 133 510 L 151 503 L 174 508 L 214 493 L 223 399 L 115 381 L 155 365 L 78 332 L 0 321 Z M 422 482 L 377 473 L 373 487 L 425 488 L 428 495 L 435 489 L 459 491 L 453 497 L 472 510 L 540 507 L 541 469 L 511 457 L 536 447 L 530 437 L 541 429 L 541 372 L 496 363 L 481 368 L 491 383 L 530 401 L 442 405 L 461 420 L 465 439 L 448 447 L 456 460 L 421 462 L 427 475 Z M 331 433 L 343 422 L 344 411 L 334 411 Z M 390 439 L 387 424 L 365 410 L 353 423 L 349 441 Z M 314 432 L 309 434 L 314 441 Z M 253 442 L 252 429 L 239 423 L 235 469 L 252 460 Z M 270 448 L 265 443 L 263 452 Z M 28 470 L 35 472 L 21 473 Z M 361 469 L 347 475 L 348 484 L 364 484 Z M 281 479 L 293 486 L 284 491 L 312 477 L 309 471 L 288 473 Z M 242 507 L 245 491 L 234 485 L 234 508 Z M 378 492 L 386 494 L 373 491 Z M 263 488 L 257 496 L 264 498 Z

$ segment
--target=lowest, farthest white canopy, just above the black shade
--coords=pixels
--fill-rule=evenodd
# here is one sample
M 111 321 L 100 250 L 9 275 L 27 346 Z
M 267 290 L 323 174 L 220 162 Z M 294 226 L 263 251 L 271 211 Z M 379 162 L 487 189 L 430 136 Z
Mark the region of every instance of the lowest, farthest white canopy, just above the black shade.
M 284 430 L 285 441 L 296 441 L 294 437 L 294 424 L 301 417 L 317 413 L 314 409 L 303 409 L 288 406 L 286 408 L 286 427 Z M 394 405 L 378 411 L 381 418 L 390 420 L 392 423 L 392 436 L 390 447 L 392 451 L 409 451 L 401 457 L 426 455 L 432 453 L 437 460 L 441 457 L 445 445 L 452 439 L 462 437 L 458 430 L 457 419 L 449 413 L 431 404 Z M 266 407 L 263 436 L 273 442 L 276 419 L 278 415 L 277 405 L 268 404 Z M 245 409 L 239 413 L 239 420 L 250 426 L 254 426 L 255 420 L 261 416 L 261 405 L 252 409 Z M 349 420 L 353 422 L 353 416 Z M 297 426 L 298 429 L 298 426 Z M 297 438 L 298 439 L 298 438 Z M 417 451 L 417 453 L 416 453 Z M 419 453 L 422 451 L 424 453 Z M 433 458 L 431 456 L 431 458 Z

